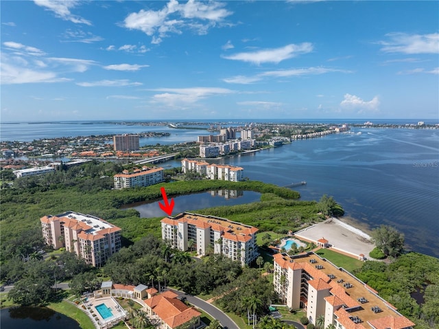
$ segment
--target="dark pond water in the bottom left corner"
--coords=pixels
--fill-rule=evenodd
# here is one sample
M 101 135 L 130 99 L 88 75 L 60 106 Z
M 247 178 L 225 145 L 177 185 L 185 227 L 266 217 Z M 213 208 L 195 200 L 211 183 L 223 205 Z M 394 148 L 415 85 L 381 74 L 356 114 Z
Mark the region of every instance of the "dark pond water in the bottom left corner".
M 45 307 L 2 308 L 1 329 L 80 329 L 75 320 Z

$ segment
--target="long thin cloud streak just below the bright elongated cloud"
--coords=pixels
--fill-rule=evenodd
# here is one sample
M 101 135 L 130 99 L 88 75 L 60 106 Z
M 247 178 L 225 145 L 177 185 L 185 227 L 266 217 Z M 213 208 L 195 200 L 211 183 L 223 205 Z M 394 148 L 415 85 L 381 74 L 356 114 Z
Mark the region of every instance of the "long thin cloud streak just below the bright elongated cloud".
M 263 78 L 288 78 L 292 76 L 311 76 L 333 72 L 352 73 L 351 71 L 347 70 L 329 69 L 327 67 L 305 67 L 300 69 L 280 69 L 276 71 L 265 71 L 255 76 L 234 76 L 231 78 L 225 78 L 223 79 L 223 81 L 227 83 L 250 84 L 252 82 L 263 80 Z

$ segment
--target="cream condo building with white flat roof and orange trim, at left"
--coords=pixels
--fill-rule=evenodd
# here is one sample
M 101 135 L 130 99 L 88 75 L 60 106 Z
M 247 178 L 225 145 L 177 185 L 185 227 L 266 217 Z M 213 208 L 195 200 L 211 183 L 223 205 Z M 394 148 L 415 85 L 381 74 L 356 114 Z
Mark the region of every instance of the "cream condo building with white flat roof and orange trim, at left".
M 101 266 L 121 249 L 121 229 L 105 220 L 78 212 L 40 218 L 43 238 L 54 249 L 65 247 L 87 264 Z

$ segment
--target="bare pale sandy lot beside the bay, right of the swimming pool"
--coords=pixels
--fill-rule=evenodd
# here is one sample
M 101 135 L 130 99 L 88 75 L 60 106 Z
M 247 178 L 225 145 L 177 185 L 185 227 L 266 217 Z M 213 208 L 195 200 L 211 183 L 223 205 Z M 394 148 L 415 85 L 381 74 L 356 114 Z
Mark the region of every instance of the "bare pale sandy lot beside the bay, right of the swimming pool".
M 325 238 L 329 241 L 330 249 L 353 258 L 359 258 L 361 253 L 369 258 L 370 251 L 375 247 L 368 234 L 337 218 L 329 218 L 322 223 L 297 231 L 294 236 L 316 244 L 317 240 Z

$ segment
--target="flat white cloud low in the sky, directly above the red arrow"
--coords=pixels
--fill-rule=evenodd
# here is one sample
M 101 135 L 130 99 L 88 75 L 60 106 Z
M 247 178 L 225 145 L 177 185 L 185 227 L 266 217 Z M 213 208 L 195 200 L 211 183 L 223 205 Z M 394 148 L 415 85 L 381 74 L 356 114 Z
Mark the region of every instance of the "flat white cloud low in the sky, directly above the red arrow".
M 193 87 L 193 88 L 159 88 L 152 91 L 163 91 L 152 96 L 152 102 L 161 102 L 168 106 L 178 104 L 193 104 L 207 97 L 226 95 L 235 91 L 217 87 Z

